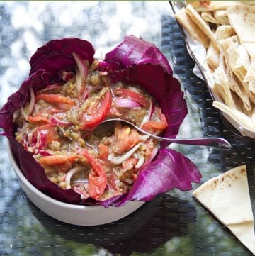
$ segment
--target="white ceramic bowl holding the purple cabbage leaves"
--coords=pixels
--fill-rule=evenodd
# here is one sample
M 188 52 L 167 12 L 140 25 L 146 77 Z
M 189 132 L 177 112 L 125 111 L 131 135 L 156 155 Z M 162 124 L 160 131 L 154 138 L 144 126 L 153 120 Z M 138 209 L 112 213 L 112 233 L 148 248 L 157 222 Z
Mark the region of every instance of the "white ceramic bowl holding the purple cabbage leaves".
M 33 184 L 28 182 L 28 179 L 26 179 L 21 172 L 21 169 L 18 167 L 8 142 L 7 149 L 11 165 L 17 174 L 18 181 L 30 201 L 40 208 L 40 210 L 59 221 L 80 226 L 95 226 L 111 223 L 128 216 L 145 203 L 144 201 L 130 201 L 128 204 L 125 204 L 125 206 L 110 206 L 105 208 L 103 206 L 81 206 L 57 201 L 56 199 L 52 199 L 50 196 L 43 194 L 40 190 L 34 187 Z

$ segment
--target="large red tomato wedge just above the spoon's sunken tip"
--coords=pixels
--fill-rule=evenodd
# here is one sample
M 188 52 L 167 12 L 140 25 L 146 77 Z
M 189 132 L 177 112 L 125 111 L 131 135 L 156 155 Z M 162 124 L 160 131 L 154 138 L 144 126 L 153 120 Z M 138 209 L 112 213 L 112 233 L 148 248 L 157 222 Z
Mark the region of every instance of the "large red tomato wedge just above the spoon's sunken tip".
M 81 130 L 92 129 L 103 121 L 111 108 L 111 103 L 111 91 L 107 91 L 103 96 L 103 100 L 98 101 L 98 104 L 93 104 L 86 113 L 84 113 L 81 118 Z

